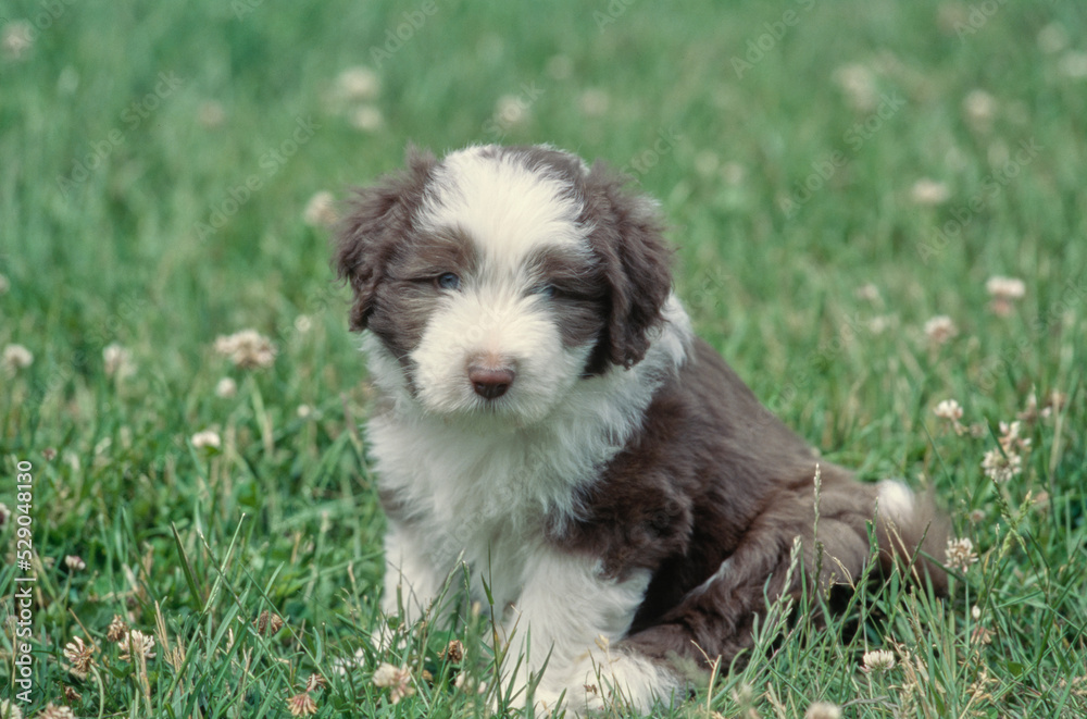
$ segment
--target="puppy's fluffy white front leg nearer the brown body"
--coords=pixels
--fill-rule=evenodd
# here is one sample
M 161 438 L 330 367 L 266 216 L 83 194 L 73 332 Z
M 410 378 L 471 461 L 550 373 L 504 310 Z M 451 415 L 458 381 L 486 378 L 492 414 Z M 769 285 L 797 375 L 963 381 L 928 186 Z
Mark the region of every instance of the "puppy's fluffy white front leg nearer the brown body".
M 574 714 L 620 694 L 641 709 L 670 701 L 675 678 L 648 658 L 615 652 L 641 605 L 650 573 L 633 570 L 609 577 L 588 556 L 539 548 L 525 567 L 526 581 L 505 629 L 515 677 L 516 702 L 526 701 L 530 675 L 544 669 L 534 702 L 554 709 L 560 697 Z M 546 669 L 544 665 L 546 662 Z

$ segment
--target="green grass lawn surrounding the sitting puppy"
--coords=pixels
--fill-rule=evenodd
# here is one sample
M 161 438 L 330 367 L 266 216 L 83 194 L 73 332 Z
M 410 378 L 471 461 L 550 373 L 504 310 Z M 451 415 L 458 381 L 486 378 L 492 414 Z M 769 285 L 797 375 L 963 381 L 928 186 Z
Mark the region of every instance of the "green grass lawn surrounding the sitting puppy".
M 791 718 L 815 701 L 847 717 L 1087 712 L 1079 3 L 616 2 L 600 28 L 603 0 L 436 0 L 377 70 L 368 102 L 384 122 L 367 132 L 330 99 L 336 77 L 373 66 L 386 30 L 426 3 L 122 4 L 0 3 L 33 35 L 21 58 L 0 57 L 0 347 L 34 354 L 0 393 L 0 500 L 16 509 L 20 461 L 34 476 L 25 712 L 64 703 L 68 685 L 80 717 L 283 717 L 314 672 L 328 679 L 323 717 L 486 712 L 488 695 L 453 687 L 462 673 L 489 685 L 485 619 L 466 612 L 388 654 L 371 641 L 384 519 L 357 429 L 365 375 L 327 233 L 302 213 L 317 191 L 343 198 L 397 166 L 409 141 L 443 151 L 502 133 L 634 169 L 673 226 L 699 332 L 828 458 L 934 487 L 980 556 L 944 600 L 895 579 L 826 627 L 778 612 L 744 670 L 721 668 L 674 716 Z M 737 77 L 733 59 L 788 10 L 797 22 Z M 1061 45 L 1054 26 L 1063 47 L 1044 47 L 1044 28 Z M 835 79 L 846 65 L 894 111 L 854 109 Z M 987 121 L 964 114 L 975 89 L 995 100 Z M 587 90 L 605 107 L 587 108 Z M 523 121 L 496 120 L 502 96 L 529 102 Z M 217 126 L 200 121 L 209 102 Z M 299 122 L 315 127 L 285 146 Z M 662 134 L 677 137 L 647 156 Z M 1024 141 L 1041 149 L 1016 162 Z M 789 208 L 828 158 L 822 187 Z M 949 198 L 911 201 L 923 177 Z M 228 216 L 201 230 L 216 211 Z M 1008 317 L 988 307 L 994 275 L 1026 283 Z M 859 298 L 870 283 L 878 298 Z M 942 346 L 923 332 L 936 314 L 959 327 Z M 216 336 L 245 327 L 276 343 L 274 367 L 215 354 Z M 129 376 L 105 373 L 114 343 Z M 216 396 L 224 376 L 233 397 Z M 1023 423 L 1023 471 L 995 484 L 983 456 L 1032 392 L 1065 401 Z M 945 398 L 979 436 L 934 416 Z M 205 429 L 220 450 L 192 445 Z M 5 616 L 24 573 L 14 519 L 0 532 Z M 285 628 L 258 633 L 262 611 Z M 157 636 L 146 671 L 105 639 L 114 615 Z M 98 646 L 84 680 L 63 657 L 74 636 Z M 439 658 L 452 637 L 461 662 Z M 864 650 L 897 646 L 910 662 L 859 670 Z M 9 627 L 4 687 L 15 648 Z M 360 649 L 357 669 L 334 671 Z M 392 706 L 371 682 L 380 661 L 407 664 L 416 693 Z

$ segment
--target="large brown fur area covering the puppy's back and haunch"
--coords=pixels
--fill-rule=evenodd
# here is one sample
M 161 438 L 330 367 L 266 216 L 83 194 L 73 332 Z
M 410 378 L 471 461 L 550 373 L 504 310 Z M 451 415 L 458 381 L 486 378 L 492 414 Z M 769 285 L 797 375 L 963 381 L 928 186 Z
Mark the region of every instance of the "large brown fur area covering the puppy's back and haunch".
M 658 392 L 642 431 L 580 498 L 580 520 L 557 531 L 552 541 L 600 557 L 613 577 L 634 569 L 653 572 L 624 646 L 701 662 L 700 647 L 728 666 L 751 645 L 764 587 L 771 597 L 799 591 L 799 572 L 785 583 L 794 537 L 801 537 L 805 575 L 814 578 L 820 567 L 821 575 L 812 579 L 817 586 L 863 575 L 875 494 L 875 485 L 817 459 L 699 340 L 679 376 Z M 908 560 L 926 529 L 926 548 L 941 557 L 945 526 L 921 525 L 932 517 L 923 513 L 901 528 L 898 545 L 879 529 L 882 563 L 889 566 L 892 554 Z M 944 588 L 942 572 L 934 565 L 926 570 L 935 588 Z

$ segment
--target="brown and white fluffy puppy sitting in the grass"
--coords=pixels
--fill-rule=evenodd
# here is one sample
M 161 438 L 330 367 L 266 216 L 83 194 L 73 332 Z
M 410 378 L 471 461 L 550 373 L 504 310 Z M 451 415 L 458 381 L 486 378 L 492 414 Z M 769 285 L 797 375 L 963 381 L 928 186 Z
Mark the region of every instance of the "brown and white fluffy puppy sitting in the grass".
M 945 538 L 901 483 L 820 461 L 692 335 L 657 204 L 623 184 L 549 147 L 410 151 L 358 193 L 335 259 L 379 396 L 383 609 L 418 619 L 463 563 L 525 657 L 511 681 L 547 660 L 535 701 L 578 712 L 646 711 L 687 695 L 677 666 L 727 667 L 764 592 L 801 590 L 795 537 L 824 587 L 862 575 L 870 523 L 885 568 Z

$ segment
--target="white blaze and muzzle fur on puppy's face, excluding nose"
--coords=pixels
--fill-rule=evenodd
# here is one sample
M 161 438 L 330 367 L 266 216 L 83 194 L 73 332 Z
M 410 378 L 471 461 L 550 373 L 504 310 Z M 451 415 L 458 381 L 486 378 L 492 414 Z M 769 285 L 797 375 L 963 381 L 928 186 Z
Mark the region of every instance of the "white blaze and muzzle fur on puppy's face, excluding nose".
M 517 424 L 539 421 L 577 382 L 591 347 L 563 346 L 540 278 L 526 264 L 549 247 L 584 250 L 590 261 L 577 222 L 580 202 L 546 171 L 483 148 L 449 156 L 433 187 L 421 226 L 455 228 L 474 244 L 478 262 L 448 290 L 411 354 L 416 396 L 438 413 L 480 410 Z M 473 388 L 467 368 L 480 358 L 514 372 L 500 397 Z

